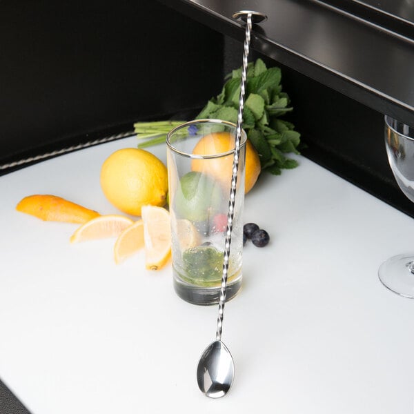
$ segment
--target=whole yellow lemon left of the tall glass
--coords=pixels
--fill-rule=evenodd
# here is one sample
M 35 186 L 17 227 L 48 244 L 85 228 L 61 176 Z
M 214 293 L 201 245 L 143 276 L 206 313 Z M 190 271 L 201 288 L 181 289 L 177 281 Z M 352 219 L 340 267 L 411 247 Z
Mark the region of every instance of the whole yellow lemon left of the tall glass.
M 151 152 L 123 148 L 103 162 L 101 188 L 110 203 L 119 210 L 139 216 L 141 207 L 146 204 L 166 204 L 167 168 Z

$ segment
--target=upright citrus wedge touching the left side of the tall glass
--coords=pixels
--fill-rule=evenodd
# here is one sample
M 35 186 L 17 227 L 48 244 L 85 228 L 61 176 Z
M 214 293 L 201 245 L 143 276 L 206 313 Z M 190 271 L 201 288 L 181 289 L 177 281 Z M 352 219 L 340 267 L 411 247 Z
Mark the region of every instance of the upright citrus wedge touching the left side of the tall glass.
M 170 213 L 162 207 L 143 206 L 145 266 L 157 270 L 164 266 L 171 255 Z

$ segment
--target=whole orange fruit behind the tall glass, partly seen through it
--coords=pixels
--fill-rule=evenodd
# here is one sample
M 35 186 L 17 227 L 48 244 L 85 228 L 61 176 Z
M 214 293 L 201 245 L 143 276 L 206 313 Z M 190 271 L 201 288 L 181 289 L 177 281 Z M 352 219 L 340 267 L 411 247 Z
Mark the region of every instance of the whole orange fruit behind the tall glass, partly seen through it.
M 196 144 L 193 154 L 208 155 L 221 154 L 235 148 L 235 139 L 230 132 L 213 132 L 204 135 Z M 215 179 L 226 181 L 231 177 L 231 169 L 233 166 L 233 155 L 219 157 L 214 159 L 193 159 L 191 169 L 193 171 L 206 172 Z M 255 185 L 259 177 L 260 159 L 257 151 L 250 141 L 246 141 L 246 165 L 245 165 L 245 184 L 244 193 L 247 194 Z

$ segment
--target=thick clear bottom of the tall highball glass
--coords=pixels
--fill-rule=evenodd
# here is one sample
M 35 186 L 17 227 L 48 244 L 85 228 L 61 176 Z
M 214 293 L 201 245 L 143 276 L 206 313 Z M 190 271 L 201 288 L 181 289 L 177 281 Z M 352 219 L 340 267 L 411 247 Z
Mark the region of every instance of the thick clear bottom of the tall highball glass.
M 173 270 L 173 283 L 175 293 L 190 304 L 207 306 L 219 303 L 220 286 L 205 288 L 188 284 L 180 279 L 175 270 Z M 233 299 L 239 293 L 240 288 L 242 288 L 242 275 L 227 284 L 226 302 Z

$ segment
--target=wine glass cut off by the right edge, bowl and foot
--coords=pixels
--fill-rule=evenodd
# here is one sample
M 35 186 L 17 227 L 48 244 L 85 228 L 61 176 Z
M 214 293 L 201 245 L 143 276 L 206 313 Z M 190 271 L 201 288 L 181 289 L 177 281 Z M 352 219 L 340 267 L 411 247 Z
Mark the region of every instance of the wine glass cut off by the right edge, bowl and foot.
M 414 128 L 385 115 L 388 162 L 402 192 L 414 203 Z M 398 295 L 414 298 L 414 252 L 386 260 L 378 270 L 380 281 Z

